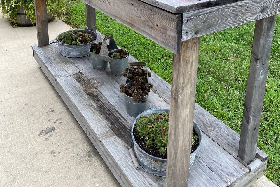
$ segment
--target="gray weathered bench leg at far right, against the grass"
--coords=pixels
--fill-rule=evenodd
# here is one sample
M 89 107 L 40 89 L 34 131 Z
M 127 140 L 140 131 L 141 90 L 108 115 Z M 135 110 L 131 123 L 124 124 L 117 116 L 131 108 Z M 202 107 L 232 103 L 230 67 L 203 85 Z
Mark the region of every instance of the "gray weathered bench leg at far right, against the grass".
M 276 16 L 256 21 L 238 157 L 255 158 Z

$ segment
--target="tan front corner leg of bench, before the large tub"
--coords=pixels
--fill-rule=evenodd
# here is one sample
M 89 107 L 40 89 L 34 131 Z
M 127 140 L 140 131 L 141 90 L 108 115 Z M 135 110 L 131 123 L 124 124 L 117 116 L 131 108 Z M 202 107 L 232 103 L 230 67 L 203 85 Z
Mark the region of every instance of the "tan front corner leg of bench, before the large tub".
M 173 55 L 167 187 L 187 187 L 190 167 L 199 38 L 183 41 L 181 47 L 181 53 Z

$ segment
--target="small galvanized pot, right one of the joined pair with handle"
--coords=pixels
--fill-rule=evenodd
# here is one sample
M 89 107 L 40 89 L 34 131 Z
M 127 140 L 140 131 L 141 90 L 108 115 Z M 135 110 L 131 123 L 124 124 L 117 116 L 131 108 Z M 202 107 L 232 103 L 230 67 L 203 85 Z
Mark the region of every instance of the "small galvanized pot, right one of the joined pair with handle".
M 110 53 L 113 53 L 115 51 L 118 51 L 120 49 L 114 49 L 112 51 L 109 51 L 108 54 Z M 110 69 L 111 69 L 111 73 L 113 75 L 122 75 L 122 73 L 124 72 L 124 70 L 126 69 L 127 67 L 127 62 L 128 62 L 128 57 L 129 57 L 129 52 L 127 52 L 127 57 L 125 58 L 122 58 L 122 59 L 113 59 L 111 57 L 110 60 L 109 60 L 109 63 L 110 63 Z

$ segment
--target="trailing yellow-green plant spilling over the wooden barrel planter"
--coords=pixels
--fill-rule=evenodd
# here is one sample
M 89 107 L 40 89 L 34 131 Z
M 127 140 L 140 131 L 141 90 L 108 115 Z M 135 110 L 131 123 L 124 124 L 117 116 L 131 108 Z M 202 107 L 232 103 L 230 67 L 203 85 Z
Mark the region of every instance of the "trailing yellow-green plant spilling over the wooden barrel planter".
M 62 0 L 46 0 L 47 13 L 52 14 L 57 18 L 57 15 L 62 9 Z M 32 24 L 35 23 L 35 6 L 34 0 L 0 0 L 0 7 L 3 16 L 10 16 L 10 23 L 17 25 L 18 6 L 22 5 L 25 16 L 29 17 Z

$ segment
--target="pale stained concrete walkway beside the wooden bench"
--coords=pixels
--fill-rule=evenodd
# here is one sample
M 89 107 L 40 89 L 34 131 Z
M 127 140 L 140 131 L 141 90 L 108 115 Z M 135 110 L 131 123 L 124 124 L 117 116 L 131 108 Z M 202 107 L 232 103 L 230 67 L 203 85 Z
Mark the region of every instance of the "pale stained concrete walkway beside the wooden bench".
M 36 27 L 0 25 L 0 186 L 120 186 L 39 70 Z M 48 27 L 50 40 L 70 28 Z M 275 186 L 262 177 L 254 187 Z

